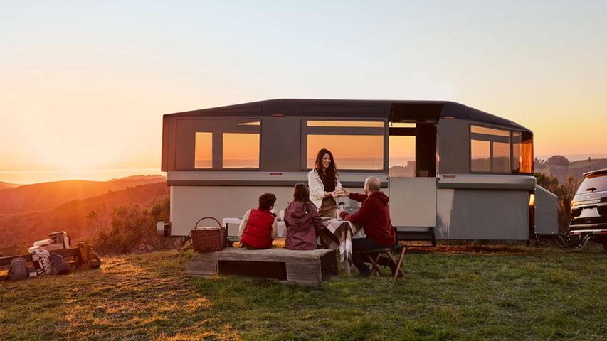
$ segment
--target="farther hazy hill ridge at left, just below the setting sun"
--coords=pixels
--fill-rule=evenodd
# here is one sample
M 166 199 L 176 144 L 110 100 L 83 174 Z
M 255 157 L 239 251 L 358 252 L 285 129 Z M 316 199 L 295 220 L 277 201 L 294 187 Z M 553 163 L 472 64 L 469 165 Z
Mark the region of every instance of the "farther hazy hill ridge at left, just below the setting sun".
M 161 175 L 132 176 L 110 181 L 66 180 L 0 190 L 0 215 L 48 210 L 71 200 L 95 197 L 146 183 L 164 183 Z

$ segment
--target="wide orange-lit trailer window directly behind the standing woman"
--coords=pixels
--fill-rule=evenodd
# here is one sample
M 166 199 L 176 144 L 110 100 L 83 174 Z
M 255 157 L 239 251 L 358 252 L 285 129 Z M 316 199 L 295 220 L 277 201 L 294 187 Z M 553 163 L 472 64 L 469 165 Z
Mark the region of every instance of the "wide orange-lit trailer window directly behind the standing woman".
M 384 121 L 302 121 L 302 168 L 314 168 L 318 151 L 333 153 L 340 170 L 384 169 Z

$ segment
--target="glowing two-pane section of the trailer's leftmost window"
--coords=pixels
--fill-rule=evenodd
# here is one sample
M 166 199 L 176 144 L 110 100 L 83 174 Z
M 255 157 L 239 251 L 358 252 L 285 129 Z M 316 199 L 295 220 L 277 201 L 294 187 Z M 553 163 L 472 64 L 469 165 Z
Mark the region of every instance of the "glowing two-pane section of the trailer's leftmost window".
M 260 120 L 204 119 L 197 129 L 194 168 L 259 168 Z

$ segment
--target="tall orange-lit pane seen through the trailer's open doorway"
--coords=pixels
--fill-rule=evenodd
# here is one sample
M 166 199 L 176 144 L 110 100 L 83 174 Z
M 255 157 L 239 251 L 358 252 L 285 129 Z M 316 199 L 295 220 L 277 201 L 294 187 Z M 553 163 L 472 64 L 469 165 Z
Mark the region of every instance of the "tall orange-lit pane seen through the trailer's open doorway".
M 415 176 L 415 136 L 390 136 L 388 166 L 392 178 Z

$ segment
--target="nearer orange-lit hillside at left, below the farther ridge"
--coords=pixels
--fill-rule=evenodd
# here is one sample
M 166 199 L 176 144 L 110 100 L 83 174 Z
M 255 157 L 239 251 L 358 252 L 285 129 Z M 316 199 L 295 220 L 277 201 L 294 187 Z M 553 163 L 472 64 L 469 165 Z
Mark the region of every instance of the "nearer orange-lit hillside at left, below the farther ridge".
M 66 231 L 72 237 L 73 245 L 79 239 L 95 237 L 104 224 L 110 224 L 114 207 L 139 205 L 144 208 L 154 200 L 164 200 L 169 196 L 169 187 L 164 182 L 137 185 L 123 190 L 72 200 L 50 210 L 14 214 L 0 214 L 0 254 L 10 255 L 27 251 L 31 244 L 46 239 L 54 231 Z M 95 211 L 102 224 L 87 219 Z

